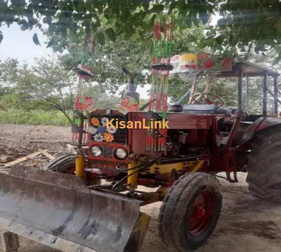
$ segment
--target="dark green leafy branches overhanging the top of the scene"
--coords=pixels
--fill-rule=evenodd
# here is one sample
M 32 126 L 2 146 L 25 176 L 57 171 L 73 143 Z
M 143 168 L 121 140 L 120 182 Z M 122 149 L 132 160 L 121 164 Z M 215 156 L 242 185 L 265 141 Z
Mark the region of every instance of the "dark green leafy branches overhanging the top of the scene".
M 281 56 L 281 2 L 279 0 L 0 0 L 0 25 L 14 22 L 21 29 L 47 26 L 48 46 L 66 48 L 69 35 L 95 34 L 101 45 L 123 35 L 142 42 L 150 40 L 157 13 L 174 11 L 175 26 L 182 30 L 192 24 L 205 25 L 202 48 L 235 54 L 237 50 L 256 53 L 269 49 Z M 208 21 L 220 14 L 215 26 Z M 212 16 L 214 17 L 214 16 Z M 63 37 L 63 39 L 61 39 Z M 3 34 L 0 33 L 0 41 Z M 33 40 L 39 45 L 35 33 Z

